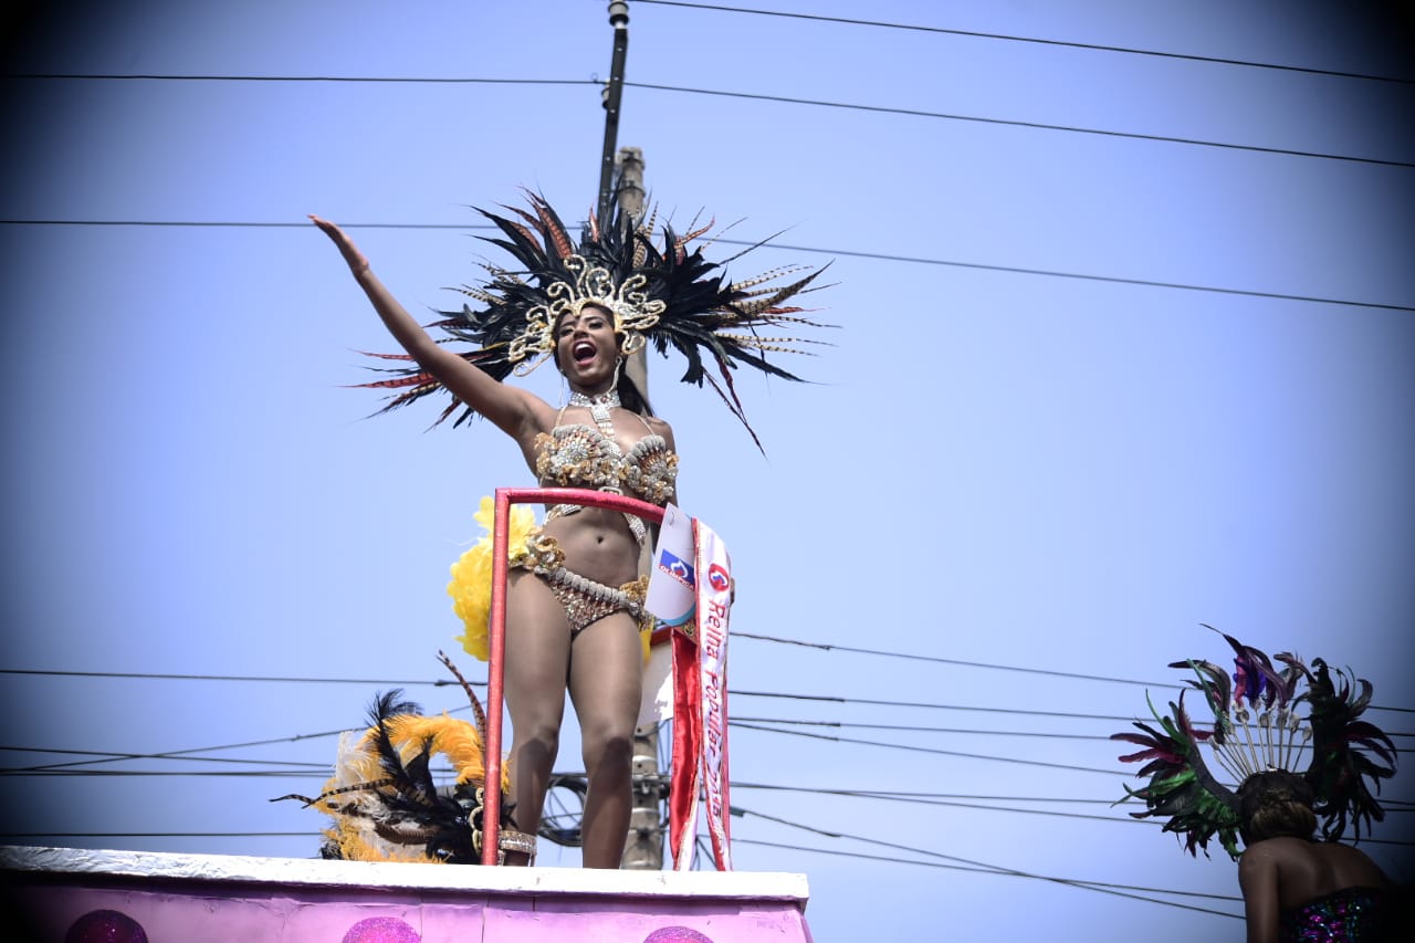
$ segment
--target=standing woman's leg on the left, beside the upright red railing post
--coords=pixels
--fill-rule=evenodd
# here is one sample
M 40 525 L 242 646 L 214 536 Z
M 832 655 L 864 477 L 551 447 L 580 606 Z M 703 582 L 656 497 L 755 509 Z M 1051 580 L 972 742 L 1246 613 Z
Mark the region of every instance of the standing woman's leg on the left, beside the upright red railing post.
M 507 593 L 505 697 L 511 712 L 511 797 L 516 827 L 533 835 L 560 748 L 570 626 L 539 578 L 514 572 Z M 508 852 L 507 864 L 526 864 Z

